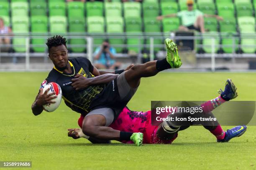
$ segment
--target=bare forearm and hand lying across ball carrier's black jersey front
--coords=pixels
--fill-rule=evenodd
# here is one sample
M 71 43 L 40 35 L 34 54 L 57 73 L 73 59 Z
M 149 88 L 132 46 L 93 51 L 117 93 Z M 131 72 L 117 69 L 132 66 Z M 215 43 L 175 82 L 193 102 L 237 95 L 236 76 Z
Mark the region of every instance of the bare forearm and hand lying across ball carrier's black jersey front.
M 107 84 L 108 82 L 114 80 L 117 76 L 118 75 L 115 74 L 104 74 L 93 78 L 85 78 L 84 76 L 77 74 L 75 76 L 76 78 L 71 79 L 71 85 L 76 90 L 81 90 L 90 85 Z

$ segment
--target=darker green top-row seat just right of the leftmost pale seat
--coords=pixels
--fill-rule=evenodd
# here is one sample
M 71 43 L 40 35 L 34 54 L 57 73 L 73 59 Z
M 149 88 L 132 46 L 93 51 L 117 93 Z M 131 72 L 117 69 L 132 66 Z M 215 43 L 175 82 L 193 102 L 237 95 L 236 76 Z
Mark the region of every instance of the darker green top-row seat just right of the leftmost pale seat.
M 47 4 L 44 1 L 41 2 L 30 2 L 30 13 L 31 16 L 46 15 Z

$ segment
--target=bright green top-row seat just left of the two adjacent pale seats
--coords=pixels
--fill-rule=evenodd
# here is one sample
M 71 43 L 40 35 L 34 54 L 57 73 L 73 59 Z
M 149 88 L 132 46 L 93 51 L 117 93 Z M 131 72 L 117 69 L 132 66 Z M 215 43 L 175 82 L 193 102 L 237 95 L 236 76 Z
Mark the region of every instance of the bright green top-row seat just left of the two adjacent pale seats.
M 103 16 L 103 3 L 102 2 L 86 2 L 87 17 Z

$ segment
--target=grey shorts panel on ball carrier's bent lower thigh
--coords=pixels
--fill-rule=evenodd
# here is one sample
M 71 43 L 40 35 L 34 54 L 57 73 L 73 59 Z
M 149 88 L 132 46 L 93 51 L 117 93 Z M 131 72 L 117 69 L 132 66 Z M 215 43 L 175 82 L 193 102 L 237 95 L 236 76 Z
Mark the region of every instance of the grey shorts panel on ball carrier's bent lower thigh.
M 114 121 L 115 113 L 114 113 L 114 110 L 105 107 L 105 108 L 92 110 L 86 116 L 89 116 L 89 115 L 103 115 L 106 119 L 105 126 L 109 126 Z

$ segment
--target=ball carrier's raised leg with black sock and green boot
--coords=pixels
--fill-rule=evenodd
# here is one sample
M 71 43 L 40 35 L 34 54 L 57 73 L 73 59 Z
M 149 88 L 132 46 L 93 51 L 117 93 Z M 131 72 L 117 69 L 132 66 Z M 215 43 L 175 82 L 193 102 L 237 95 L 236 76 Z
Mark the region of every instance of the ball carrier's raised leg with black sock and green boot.
M 166 58 L 134 65 L 130 70 L 125 71 L 125 79 L 130 87 L 138 87 L 141 77 L 151 77 L 160 71 L 169 68 L 179 68 L 182 65 L 177 45 L 168 38 L 165 40 L 165 45 L 167 49 Z

